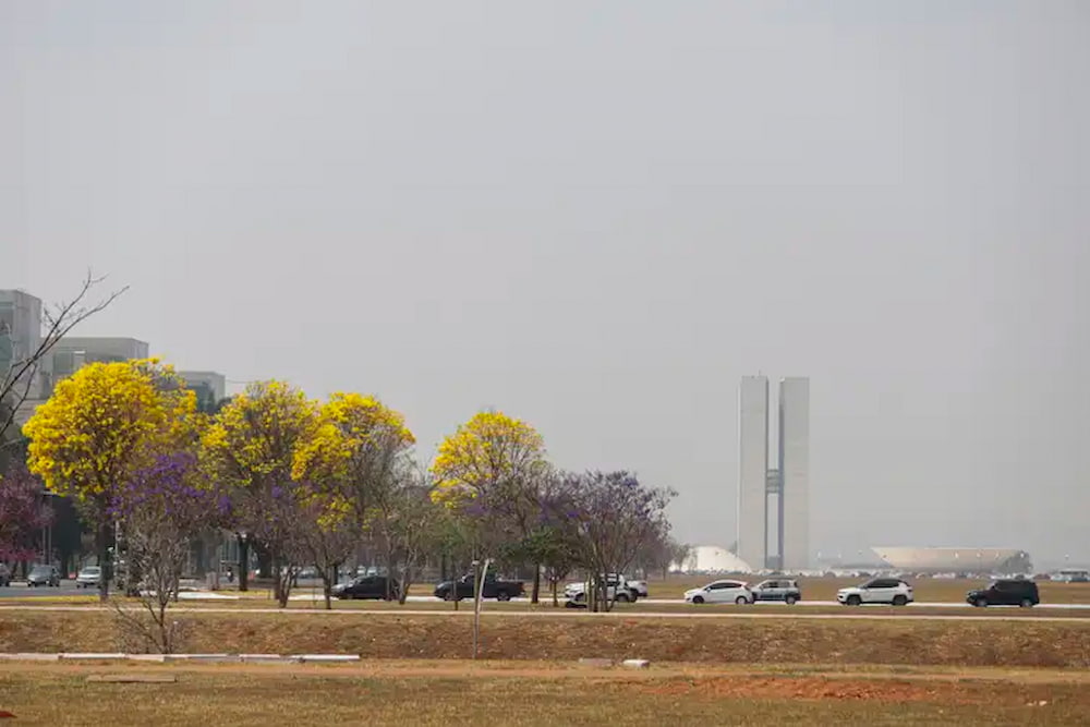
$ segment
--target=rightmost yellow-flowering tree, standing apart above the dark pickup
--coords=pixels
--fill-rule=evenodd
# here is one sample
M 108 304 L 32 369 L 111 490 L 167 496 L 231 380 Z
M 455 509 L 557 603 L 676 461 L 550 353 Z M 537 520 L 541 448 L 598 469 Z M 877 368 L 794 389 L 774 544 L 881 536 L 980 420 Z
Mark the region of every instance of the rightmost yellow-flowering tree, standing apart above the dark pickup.
M 458 516 L 473 557 L 499 549 L 519 555 L 537 523 L 538 496 L 552 472 L 533 426 L 502 412 L 479 412 L 439 445 L 432 472 L 432 498 Z M 535 575 L 535 599 L 538 587 Z

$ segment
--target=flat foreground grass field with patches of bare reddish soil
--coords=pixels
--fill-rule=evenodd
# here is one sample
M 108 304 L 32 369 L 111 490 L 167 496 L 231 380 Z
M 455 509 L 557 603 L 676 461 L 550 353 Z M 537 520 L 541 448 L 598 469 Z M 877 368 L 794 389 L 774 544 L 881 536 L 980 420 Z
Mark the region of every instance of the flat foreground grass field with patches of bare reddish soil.
M 175 681 L 88 681 L 134 674 Z M 1079 725 L 1088 686 L 1082 674 L 1010 669 L 4 664 L 0 710 L 29 725 Z

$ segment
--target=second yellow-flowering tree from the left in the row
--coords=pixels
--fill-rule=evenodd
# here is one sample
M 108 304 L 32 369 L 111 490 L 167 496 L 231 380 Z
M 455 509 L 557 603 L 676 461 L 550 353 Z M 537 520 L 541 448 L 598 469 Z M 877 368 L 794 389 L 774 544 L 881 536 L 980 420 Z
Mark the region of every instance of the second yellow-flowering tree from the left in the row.
M 318 405 L 283 381 L 258 381 L 213 419 L 201 441 L 205 471 L 230 494 L 239 533 L 239 587 L 247 587 L 249 543 L 271 559 L 276 596 L 287 605 L 300 507 L 307 494 L 292 478 L 296 450 L 319 426 Z

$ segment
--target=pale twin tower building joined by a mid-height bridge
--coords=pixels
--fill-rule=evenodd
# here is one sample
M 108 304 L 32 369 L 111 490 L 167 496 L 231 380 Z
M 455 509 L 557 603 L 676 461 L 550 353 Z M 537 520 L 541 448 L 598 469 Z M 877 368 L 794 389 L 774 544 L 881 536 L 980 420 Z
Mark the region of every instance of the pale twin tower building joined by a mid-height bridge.
M 753 570 L 799 572 L 810 567 L 810 379 L 780 379 L 777 404 L 773 460 L 768 377 L 742 377 L 736 554 Z

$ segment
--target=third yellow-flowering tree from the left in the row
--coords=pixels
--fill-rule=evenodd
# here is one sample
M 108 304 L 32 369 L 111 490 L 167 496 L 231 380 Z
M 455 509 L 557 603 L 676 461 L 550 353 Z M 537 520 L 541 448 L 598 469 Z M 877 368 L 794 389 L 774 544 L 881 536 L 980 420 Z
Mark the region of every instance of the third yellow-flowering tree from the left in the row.
M 319 419 L 314 436 L 295 455 L 293 475 L 326 502 L 325 526 L 312 529 L 310 540 L 315 557 L 326 556 L 315 565 L 323 571 L 328 590 L 336 580 L 336 569 L 347 559 L 347 553 L 344 558 L 329 558 L 340 553 L 344 528 L 356 541 L 366 531 L 380 535 L 392 573 L 393 538 L 388 536 L 395 518 L 392 506 L 408 474 L 415 437 L 400 412 L 373 396 L 334 393 L 322 407 Z M 330 548 L 330 543 L 338 547 Z

